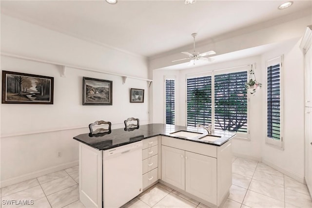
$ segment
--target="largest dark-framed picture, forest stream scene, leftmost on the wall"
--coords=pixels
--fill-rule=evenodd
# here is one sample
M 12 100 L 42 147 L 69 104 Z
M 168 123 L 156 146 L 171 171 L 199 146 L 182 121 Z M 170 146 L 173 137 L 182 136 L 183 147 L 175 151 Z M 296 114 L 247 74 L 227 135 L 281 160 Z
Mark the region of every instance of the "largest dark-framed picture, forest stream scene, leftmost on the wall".
M 53 104 L 54 77 L 2 71 L 2 103 Z

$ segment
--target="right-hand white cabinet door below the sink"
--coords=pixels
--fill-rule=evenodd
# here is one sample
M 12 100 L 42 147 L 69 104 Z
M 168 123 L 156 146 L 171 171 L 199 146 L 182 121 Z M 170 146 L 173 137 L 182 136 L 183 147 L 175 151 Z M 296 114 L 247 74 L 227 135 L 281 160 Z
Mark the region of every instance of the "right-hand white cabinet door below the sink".
M 185 151 L 185 191 L 216 204 L 216 158 Z

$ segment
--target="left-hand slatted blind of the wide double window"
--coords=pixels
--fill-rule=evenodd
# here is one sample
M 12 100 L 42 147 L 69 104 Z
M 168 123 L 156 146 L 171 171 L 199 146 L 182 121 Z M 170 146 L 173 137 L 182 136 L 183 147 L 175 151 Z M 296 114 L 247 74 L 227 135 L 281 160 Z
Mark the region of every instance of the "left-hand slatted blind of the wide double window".
M 211 123 L 211 76 L 187 79 L 187 125 Z

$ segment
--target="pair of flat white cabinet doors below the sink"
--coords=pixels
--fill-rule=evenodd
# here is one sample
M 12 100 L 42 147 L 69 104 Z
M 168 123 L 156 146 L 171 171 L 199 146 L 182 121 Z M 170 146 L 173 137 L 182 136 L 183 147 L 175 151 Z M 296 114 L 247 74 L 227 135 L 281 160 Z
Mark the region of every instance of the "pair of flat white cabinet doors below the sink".
M 161 180 L 216 204 L 216 158 L 161 146 Z

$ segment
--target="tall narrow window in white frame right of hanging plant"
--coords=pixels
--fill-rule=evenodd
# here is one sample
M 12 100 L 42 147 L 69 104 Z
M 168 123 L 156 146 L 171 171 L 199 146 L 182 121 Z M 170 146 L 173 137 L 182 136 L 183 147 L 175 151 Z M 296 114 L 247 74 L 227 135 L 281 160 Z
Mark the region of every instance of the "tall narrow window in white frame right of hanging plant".
M 282 147 L 281 115 L 282 58 L 267 62 L 267 143 Z

